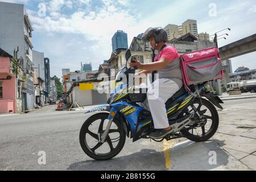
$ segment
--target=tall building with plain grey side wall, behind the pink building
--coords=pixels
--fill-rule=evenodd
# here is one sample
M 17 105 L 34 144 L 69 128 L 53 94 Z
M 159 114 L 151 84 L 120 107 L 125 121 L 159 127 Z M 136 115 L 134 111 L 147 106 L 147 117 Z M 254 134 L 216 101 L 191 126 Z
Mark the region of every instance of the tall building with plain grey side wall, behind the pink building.
M 22 90 L 23 111 L 34 109 L 34 76 L 32 71 L 32 25 L 24 5 L 0 2 L 0 47 L 22 58 L 28 78 Z

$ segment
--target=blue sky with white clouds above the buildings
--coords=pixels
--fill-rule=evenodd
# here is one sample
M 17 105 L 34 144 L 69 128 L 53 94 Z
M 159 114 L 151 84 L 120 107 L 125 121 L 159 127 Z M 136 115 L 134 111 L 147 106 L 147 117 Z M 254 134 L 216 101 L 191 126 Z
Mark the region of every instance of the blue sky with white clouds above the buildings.
M 2 1 L 2 0 L 0 0 Z M 50 59 L 51 76 L 61 77 L 61 69 L 80 70 L 81 62 L 92 62 L 93 69 L 108 60 L 112 37 L 117 30 L 134 36 L 148 27 L 181 25 L 197 20 L 198 31 L 225 30 L 229 34 L 218 46 L 243 39 L 256 32 L 256 0 L 4 0 L 22 3 L 34 31 L 34 49 Z M 219 34 L 220 35 L 220 34 Z M 256 69 L 256 52 L 232 59 L 233 71 L 245 66 Z

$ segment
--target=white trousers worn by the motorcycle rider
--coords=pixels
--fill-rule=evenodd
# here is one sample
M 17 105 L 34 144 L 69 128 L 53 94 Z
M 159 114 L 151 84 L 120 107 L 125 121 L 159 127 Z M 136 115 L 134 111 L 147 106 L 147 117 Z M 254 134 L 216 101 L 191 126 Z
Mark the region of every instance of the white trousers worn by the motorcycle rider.
M 154 81 L 147 90 L 147 100 L 141 104 L 145 109 L 150 109 L 155 129 L 169 127 L 166 114 L 166 101 L 178 90 L 179 86 L 172 80 L 160 78 Z

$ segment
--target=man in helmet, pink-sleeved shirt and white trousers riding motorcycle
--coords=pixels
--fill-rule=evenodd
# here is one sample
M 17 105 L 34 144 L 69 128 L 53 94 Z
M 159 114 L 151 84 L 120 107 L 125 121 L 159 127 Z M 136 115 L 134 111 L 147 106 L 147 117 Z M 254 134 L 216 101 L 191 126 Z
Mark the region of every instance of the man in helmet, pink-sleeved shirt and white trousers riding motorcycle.
M 150 137 L 160 139 L 172 131 L 168 123 L 165 103 L 183 86 L 180 55 L 175 47 L 166 45 L 167 32 L 161 27 L 148 28 L 144 32 L 142 40 L 150 41 L 154 60 L 152 63 L 142 64 L 139 60 L 133 59 L 130 67 L 142 69 L 143 71 L 138 75 L 150 73 L 152 77 L 152 84 L 147 91 L 147 101 L 144 104 L 150 108 L 156 129 L 150 134 Z M 157 56 L 155 56 L 155 50 L 158 51 Z M 156 80 L 154 79 L 155 73 L 158 73 Z M 158 96 L 150 97 L 155 89 L 158 89 Z

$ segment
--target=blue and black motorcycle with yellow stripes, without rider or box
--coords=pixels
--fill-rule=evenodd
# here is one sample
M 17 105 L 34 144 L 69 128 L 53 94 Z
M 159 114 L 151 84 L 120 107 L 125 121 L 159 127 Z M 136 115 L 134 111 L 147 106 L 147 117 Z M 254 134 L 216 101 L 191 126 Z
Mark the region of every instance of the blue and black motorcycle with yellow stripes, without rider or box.
M 126 65 L 131 57 L 128 49 L 125 54 Z M 134 68 L 125 66 L 118 72 L 115 82 L 121 81 L 124 74 L 127 80 L 135 73 Z M 146 100 L 146 92 L 139 89 L 134 92 L 134 83 L 119 85 L 110 94 L 108 104 L 90 109 L 85 114 L 91 115 L 81 127 L 80 144 L 82 150 L 96 160 L 108 160 L 122 150 L 126 136 L 133 139 L 151 139 L 154 123 L 150 111 L 139 102 Z M 195 142 L 204 142 L 213 137 L 218 129 L 217 106 L 222 109 L 223 103 L 218 96 L 206 91 L 208 82 L 190 86 L 190 93 L 183 87 L 166 102 L 166 113 L 172 133 L 163 139 L 152 139 L 162 142 L 164 139 L 187 138 Z M 207 99 L 205 99 L 207 98 Z

